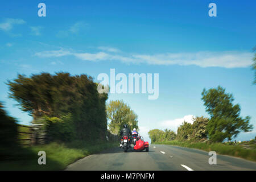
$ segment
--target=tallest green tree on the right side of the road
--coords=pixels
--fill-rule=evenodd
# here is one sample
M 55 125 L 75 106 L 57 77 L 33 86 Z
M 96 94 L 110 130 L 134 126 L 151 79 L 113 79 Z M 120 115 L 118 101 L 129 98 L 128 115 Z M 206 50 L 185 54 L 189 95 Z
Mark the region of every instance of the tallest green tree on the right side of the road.
M 231 140 L 241 131 L 247 132 L 253 129 L 253 126 L 249 125 L 250 117 L 240 117 L 240 105 L 233 105 L 233 95 L 225 93 L 225 89 L 221 86 L 217 89 L 204 89 L 201 95 L 205 110 L 210 115 L 207 130 L 209 139 L 213 142 L 222 142 L 226 138 Z

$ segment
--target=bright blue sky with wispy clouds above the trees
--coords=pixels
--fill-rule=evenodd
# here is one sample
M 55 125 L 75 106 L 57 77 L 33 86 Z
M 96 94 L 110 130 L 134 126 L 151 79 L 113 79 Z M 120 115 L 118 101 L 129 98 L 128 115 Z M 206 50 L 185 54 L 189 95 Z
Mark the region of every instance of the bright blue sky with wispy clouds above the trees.
M 38 4 L 46 4 L 46 17 Z M 217 17 L 208 5 L 217 5 Z M 20 123 L 31 121 L 7 97 L 17 73 L 159 73 L 159 98 L 110 94 L 138 114 L 141 133 L 173 129 L 204 115 L 204 88 L 233 93 L 256 126 L 255 1 L 6 1 L 0 6 L 0 98 Z M 96 80 L 97 81 L 97 80 Z M 237 140 L 254 138 L 240 134 Z

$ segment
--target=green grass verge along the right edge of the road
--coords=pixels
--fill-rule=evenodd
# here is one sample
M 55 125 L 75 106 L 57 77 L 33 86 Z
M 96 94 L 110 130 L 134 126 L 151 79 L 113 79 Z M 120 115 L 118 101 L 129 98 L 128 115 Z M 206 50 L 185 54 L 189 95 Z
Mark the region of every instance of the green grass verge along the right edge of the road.
M 224 143 L 201 143 L 201 142 L 179 142 L 177 140 L 166 141 L 166 142 L 155 142 L 155 144 L 170 144 L 174 146 L 197 148 L 204 151 L 216 151 L 217 154 L 231 155 L 238 158 L 252 160 L 256 162 L 256 150 L 255 147 L 246 149 L 242 145 L 227 145 Z

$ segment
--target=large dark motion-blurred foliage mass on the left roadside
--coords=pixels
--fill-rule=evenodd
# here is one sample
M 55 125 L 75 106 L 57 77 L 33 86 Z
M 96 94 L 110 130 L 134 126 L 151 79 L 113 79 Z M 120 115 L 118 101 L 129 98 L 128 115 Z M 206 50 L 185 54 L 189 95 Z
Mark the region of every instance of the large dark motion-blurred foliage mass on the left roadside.
M 62 121 L 63 115 L 72 113 L 77 138 L 105 139 L 105 102 L 108 94 L 98 93 L 97 84 L 93 82 L 92 77 L 71 76 L 63 72 L 56 75 L 41 73 L 31 77 L 18 75 L 15 80 L 8 81 L 7 85 L 10 89 L 9 97 L 18 101 L 21 109 L 31 114 L 34 121 L 44 116 L 57 117 Z M 59 126 L 63 125 L 52 126 L 59 129 Z M 67 126 L 64 128 L 65 132 L 69 130 Z M 64 131 L 61 130 L 62 133 Z

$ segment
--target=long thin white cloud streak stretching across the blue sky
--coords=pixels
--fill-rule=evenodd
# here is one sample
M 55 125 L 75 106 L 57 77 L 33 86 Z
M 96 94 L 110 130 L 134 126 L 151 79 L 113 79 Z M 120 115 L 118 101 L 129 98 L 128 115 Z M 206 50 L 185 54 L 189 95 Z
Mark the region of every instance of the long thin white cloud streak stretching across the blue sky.
M 102 48 L 102 47 L 101 47 Z M 106 48 L 105 48 L 106 49 Z M 123 63 L 152 64 L 152 65 L 197 65 L 199 67 L 223 67 L 223 68 L 244 68 L 252 64 L 253 53 L 251 52 L 194 52 L 194 53 L 164 53 L 158 55 L 123 55 L 112 52 L 69 52 L 60 49 L 59 51 L 44 51 L 36 55 L 44 57 L 59 57 L 66 55 L 76 56 L 86 61 L 116 60 Z

